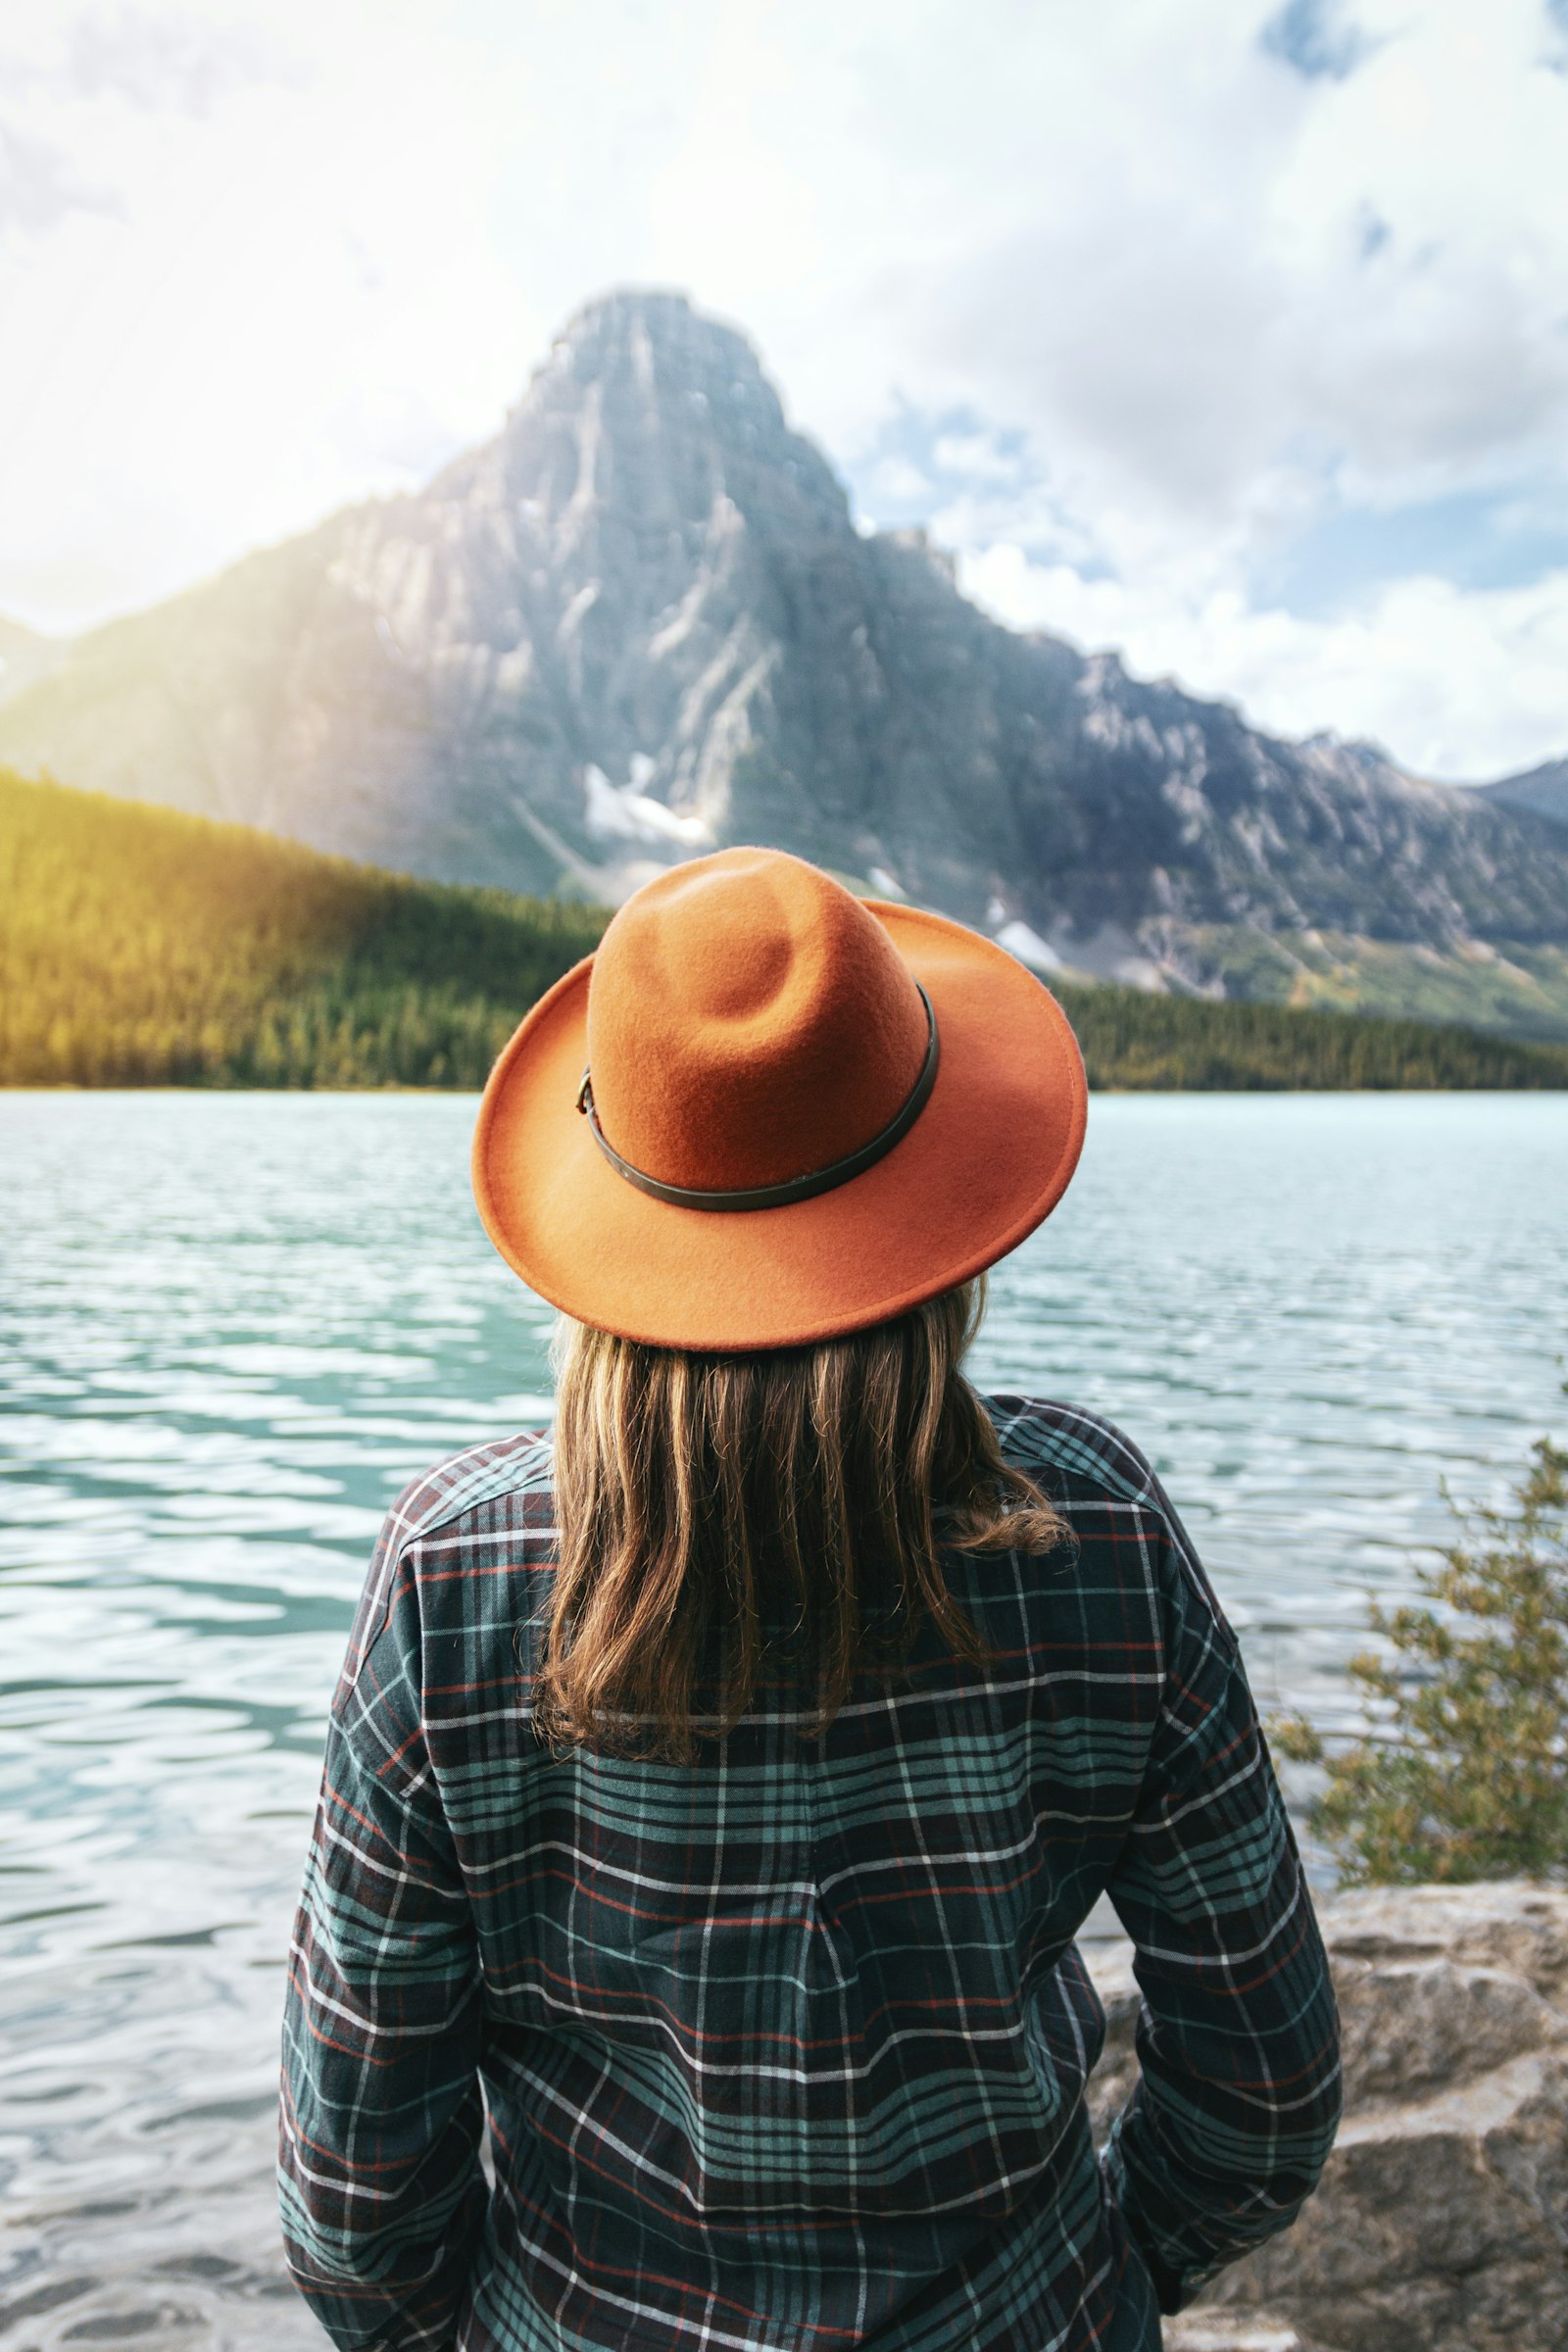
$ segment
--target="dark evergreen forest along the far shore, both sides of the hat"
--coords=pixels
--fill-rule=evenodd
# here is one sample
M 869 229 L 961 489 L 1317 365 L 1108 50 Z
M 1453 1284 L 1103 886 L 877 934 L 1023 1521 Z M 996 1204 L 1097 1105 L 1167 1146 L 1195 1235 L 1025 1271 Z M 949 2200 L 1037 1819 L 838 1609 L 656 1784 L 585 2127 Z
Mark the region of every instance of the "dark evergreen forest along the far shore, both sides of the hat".
M 482 1087 L 604 913 L 0 771 L 0 1084 Z M 1058 990 L 1093 1087 L 1568 1087 L 1568 1049 Z

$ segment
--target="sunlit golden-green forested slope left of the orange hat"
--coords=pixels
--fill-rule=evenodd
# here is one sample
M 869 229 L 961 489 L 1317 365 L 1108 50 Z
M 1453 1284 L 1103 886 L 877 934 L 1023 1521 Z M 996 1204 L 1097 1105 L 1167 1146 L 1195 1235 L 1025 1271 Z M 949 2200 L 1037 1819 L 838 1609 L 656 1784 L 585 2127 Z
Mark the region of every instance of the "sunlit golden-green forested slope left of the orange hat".
M 0 771 L 0 1082 L 480 1087 L 604 915 Z

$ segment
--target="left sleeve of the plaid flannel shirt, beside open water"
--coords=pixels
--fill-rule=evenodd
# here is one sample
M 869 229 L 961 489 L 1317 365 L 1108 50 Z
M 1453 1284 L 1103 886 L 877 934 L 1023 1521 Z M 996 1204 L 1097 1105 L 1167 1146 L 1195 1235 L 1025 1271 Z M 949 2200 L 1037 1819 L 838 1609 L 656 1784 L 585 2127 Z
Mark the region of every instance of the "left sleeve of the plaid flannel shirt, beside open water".
M 350 1644 L 284 2002 L 284 2253 L 343 2352 L 454 2343 L 489 2194 L 477 1947 L 400 1613 Z

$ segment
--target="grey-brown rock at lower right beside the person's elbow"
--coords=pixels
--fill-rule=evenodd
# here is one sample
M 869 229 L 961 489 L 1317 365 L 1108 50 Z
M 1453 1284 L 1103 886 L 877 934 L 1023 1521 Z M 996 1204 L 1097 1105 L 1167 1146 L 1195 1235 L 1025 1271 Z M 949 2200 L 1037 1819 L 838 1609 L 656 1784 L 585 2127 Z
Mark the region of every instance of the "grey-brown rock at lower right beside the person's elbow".
M 1168 2352 L 1563 2352 L 1568 1891 L 1359 1889 L 1319 1917 L 1345 2023 L 1335 2152 L 1298 2225 L 1166 2324 Z M 1131 1947 L 1084 1957 L 1105 2117 L 1133 2070 Z

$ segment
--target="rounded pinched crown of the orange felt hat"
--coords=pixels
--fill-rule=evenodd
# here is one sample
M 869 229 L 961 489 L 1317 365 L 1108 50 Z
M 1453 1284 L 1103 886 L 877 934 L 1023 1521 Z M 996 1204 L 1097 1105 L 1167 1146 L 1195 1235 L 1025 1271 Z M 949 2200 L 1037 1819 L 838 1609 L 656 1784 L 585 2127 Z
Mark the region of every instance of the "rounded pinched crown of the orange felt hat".
M 926 1007 L 886 929 L 780 849 L 658 875 L 604 931 L 588 988 L 595 1108 L 658 1183 L 788 1183 L 870 1143 L 917 1084 Z

